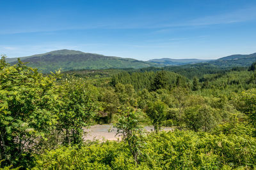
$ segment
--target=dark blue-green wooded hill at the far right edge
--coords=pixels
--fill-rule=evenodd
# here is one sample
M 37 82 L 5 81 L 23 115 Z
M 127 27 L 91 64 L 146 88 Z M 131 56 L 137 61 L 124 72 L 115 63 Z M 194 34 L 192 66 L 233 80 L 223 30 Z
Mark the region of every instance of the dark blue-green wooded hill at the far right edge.
M 251 53 L 248 55 L 229 55 L 227 57 L 222 57 L 217 60 L 209 61 L 210 64 L 220 67 L 243 67 L 250 66 L 253 62 L 256 61 L 256 53 Z

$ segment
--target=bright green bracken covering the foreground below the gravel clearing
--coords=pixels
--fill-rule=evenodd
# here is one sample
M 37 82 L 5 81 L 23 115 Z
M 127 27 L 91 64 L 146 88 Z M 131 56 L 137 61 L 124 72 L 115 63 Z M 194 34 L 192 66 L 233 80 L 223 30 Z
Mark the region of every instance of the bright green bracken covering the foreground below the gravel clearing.
M 124 142 L 61 147 L 37 157 L 34 169 L 253 169 L 256 139 L 207 132 L 150 133 L 135 164 Z

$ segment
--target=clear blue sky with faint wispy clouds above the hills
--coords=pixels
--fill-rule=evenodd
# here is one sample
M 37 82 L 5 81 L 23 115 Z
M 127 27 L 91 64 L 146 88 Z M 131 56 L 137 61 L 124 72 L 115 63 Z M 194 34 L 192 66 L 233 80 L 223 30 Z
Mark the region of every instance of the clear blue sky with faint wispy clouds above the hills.
M 70 49 L 140 60 L 256 52 L 256 1 L 0 0 L 0 54 Z

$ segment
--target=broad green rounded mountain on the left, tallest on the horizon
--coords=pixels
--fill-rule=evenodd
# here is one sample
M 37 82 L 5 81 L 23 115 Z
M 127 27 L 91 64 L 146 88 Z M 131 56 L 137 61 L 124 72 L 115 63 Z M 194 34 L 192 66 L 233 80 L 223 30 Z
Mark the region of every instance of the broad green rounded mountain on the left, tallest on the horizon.
M 36 67 L 43 73 L 60 69 L 62 71 L 76 69 L 108 69 L 108 68 L 141 68 L 159 66 L 152 62 L 136 59 L 99 55 L 97 53 L 84 53 L 75 50 L 56 50 L 48 53 L 20 57 L 28 66 Z M 10 64 L 15 64 L 17 58 L 6 59 Z

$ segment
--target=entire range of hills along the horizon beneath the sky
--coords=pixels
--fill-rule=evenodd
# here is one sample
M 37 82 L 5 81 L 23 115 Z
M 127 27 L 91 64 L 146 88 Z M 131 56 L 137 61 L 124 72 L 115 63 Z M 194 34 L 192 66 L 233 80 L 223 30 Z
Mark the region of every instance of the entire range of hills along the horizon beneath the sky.
M 22 62 L 28 62 L 28 66 L 36 67 L 43 73 L 49 73 L 60 69 L 70 71 L 77 69 L 108 69 L 108 68 L 142 68 L 196 65 L 204 63 L 217 67 L 250 66 L 256 61 L 256 53 L 249 55 L 230 55 L 217 60 L 200 59 L 152 59 L 148 61 L 99 55 L 97 53 L 84 53 L 75 50 L 56 50 L 48 53 L 19 57 Z M 10 64 L 17 63 L 17 58 L 7 58 Z

